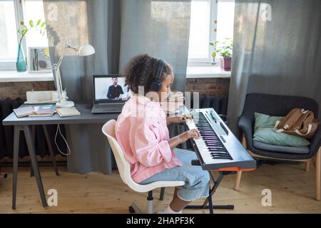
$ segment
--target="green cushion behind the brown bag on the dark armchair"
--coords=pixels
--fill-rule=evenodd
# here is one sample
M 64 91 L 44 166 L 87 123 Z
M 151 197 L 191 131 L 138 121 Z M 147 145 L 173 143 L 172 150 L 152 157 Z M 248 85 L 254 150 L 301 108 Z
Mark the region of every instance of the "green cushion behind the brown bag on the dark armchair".
M 277 133 L 274 130 L 275 122 L 282 116 L 270 116 L 262 113 L 254 113 L 255 126 L 253 141 L 264 142 L 270 145 L 285 145 L 292 147 L 305 147 L 310 142 L 295 135 Z

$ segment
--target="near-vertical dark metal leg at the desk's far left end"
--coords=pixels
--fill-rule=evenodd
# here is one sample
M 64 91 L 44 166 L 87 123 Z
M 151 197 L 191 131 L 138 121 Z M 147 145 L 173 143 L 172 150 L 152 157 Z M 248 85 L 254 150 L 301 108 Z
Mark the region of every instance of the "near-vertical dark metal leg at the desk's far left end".
M 12 180 L 12 209 L 16 209 L 16 183 L 18 175 L 18 160 L 19 160 L 19 138 L 21 126 L 14 126 L 14 177 Z

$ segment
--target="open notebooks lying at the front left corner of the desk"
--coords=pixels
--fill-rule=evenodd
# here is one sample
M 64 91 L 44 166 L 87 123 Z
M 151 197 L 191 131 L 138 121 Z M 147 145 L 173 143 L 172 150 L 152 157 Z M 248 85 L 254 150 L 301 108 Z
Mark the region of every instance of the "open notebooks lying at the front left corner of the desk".
M 21 117 L 41 117 L 52 116 L 56 113 L 55 105 L 41 105 L 41 106 L 26 106 L 21 108 L 15 108 L 14 113 L 18 118 Z

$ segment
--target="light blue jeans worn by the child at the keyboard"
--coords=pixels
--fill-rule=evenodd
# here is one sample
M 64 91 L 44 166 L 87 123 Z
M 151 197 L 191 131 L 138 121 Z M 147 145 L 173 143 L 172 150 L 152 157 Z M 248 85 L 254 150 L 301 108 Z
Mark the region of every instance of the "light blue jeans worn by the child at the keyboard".
M 200 166 L 190 164 L 191 160 L 198 160 L 195 152 L 175 148 L 174 152 L 182 166 L 156 173 L 139 184 L 146 185 L 156 181 L 183 181 L 185 185 L 178 186 L 178 197 L 184 201 L 193 201 L 200 197 L 208 197 L 210 188 L 210 175 L 208 171 L 202 170 Z

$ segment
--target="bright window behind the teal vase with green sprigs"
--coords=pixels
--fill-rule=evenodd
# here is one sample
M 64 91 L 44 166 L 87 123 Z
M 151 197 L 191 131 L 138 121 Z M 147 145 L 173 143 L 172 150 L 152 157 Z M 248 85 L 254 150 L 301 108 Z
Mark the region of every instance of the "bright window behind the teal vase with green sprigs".
M 28 24 L 30 20 L 39 19 L 45 21 L 42 0 L 0 0 L 0 69 L 15 69 L 19 42 L 17 28 L 21 28 L 21 21 Z M 48 46 L 46 33 L 41 35 L 36 31 L 29 31 L 22 46 L 28 60 L 29 47 Z

